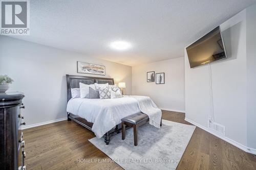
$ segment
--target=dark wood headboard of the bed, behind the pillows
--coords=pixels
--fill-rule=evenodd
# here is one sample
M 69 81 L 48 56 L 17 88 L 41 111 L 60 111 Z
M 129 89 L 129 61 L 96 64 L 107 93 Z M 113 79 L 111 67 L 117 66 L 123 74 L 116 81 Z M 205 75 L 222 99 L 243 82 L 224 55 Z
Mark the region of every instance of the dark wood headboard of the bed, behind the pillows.
M 66 75 L 67 78 L 67 102 L 72 98 L 71 89 L 79 88 L 79 83 L 83 84 L 104 84 L 109 83 L 109 85 L 114 85 L 113 78 L 101 78 L 101 77 L 89 77 L 89 76 L 74 76 L 74 75 Z

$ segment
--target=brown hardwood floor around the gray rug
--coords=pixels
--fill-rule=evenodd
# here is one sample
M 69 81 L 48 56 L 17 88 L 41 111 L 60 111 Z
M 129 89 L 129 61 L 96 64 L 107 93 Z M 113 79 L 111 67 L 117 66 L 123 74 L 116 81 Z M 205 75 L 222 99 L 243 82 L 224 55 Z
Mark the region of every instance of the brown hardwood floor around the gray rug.
M 163 111 L 163 119 L 190 125 L 184 118 L 184 113 Z M 93 137 L 73 121 L 24 130 L 27 169 L 122 169 L 115 162 L 82 162 L 109 158 L 88 141 Z M 177 169 L 256 169 L 256 156 L 196 128 Z

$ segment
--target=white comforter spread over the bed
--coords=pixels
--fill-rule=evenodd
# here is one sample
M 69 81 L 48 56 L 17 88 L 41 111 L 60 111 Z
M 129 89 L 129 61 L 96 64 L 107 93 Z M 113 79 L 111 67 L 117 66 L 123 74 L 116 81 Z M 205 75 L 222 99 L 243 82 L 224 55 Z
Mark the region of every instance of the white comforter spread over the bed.
M 140 105 L 136 98 L 139 98 L 139 101 L 141 102 Z M 78 115 L 79 117 L 87 119 L 88 122 L 93 123 L 92 131 L 95 133 L 97 138 L 100 138 L 116 125 L 120 124 L 121 118 L 143 112 L 143 110 L 147 111 L 148 109 L 145 110 L 145 106 L 143 105 L 143 98 L 148 101 L 148 97 L 146 96 L 124 96 L 123 98 L 104 100 L 75 98 L 68 102 L 67 112 Z M 156 108 L 154 102 L 151 99 L 150 101 L 152 102 L 151 106 Z M 142 108 L 142 110 L 140 108 Z M 158 121 L 159 110 L 160 109 L 158 109 L 158 116 L 155 117 L 155 119 L 157 118 L 157 121 L 154 121 L 157 122 L 155 125 L 160 125 L 161 117 Z M 149 114 L 148 116 L 150 118 L 153 117 Z

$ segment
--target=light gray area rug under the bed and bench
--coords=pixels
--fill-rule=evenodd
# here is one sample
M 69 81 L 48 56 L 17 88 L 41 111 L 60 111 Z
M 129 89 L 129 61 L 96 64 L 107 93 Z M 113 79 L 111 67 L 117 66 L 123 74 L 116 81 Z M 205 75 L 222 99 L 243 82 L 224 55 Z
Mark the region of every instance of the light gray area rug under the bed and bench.
M 138 128 L 138 146 L 134 146 L 133 128 L 112 136 L 109 145 L 103 138 L 89 141 L 126 170 L 176 169 L 194 133 L 195 126 L 162 120 L 161 129 L 149 124 Z

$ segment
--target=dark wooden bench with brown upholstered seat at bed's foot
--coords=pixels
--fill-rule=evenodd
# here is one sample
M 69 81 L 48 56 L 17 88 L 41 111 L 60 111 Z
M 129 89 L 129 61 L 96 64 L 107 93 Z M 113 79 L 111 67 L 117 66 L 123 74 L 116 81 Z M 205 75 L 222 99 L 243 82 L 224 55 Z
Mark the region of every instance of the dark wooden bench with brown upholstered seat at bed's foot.
M 150 119 L 144 113 L 136 113 L 130 116 L 126 116 L 121 119 L 122 121 L 122 140 L 125 138 L 125 126 L 133 127 L 133 135 L 134 135 L 134 145 L 138 145 L 138 136 L 137 136 L 137 128 L 145 123 L 147 123 Z M 161 120 L 162 125 L 162 120 Z

